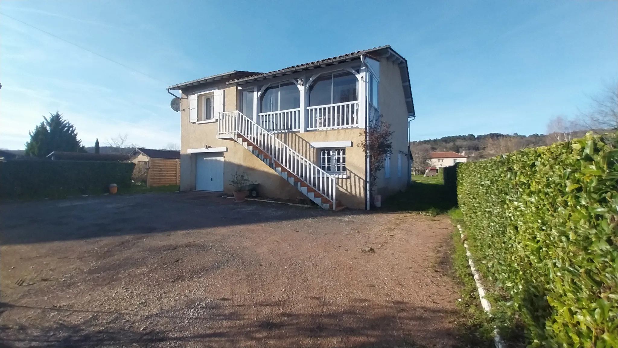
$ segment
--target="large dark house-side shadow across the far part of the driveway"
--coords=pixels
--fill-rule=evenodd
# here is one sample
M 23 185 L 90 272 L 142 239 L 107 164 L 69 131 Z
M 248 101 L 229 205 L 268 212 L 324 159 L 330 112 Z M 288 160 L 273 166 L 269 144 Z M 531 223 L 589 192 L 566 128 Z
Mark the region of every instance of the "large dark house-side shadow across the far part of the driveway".
M 98 196 L 0 204 L 0 245 L 366 214 L 246 201 L 211 193 Z

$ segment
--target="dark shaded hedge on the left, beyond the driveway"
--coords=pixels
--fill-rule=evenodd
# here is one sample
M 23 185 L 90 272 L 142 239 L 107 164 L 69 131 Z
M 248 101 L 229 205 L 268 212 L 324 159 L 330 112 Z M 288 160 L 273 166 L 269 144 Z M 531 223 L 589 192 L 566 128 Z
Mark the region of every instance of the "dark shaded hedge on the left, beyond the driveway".
M 62 198 L 131 186 L 135 163 L 12 160 L 0 162 L 0 198 Z

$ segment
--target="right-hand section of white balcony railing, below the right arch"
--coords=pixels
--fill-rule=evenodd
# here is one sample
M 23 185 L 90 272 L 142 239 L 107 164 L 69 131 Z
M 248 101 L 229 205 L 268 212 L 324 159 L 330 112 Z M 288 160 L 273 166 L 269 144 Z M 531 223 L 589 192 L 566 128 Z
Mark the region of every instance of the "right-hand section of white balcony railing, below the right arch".
M 307 108 L 307 130 L 358 126 L 358 100 Z

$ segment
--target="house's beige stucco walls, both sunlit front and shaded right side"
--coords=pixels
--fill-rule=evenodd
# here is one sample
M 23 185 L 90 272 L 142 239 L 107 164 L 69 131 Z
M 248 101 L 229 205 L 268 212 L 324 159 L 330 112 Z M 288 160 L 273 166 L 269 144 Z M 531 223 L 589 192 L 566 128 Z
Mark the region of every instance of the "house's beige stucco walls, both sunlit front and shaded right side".
M 209 85 L 208 88 L 213 87 Z M 225 111 L 237 110 L 238 97 L 236 87 L 227 87 L 220 82 L 219 88 L 225 89 Z M 277 175 L 268 165 L 255 157 L 244 147 L 231 139 L 217 139 L 218 123 L 192 124 L 188 121 L 189 91 L 182 91 L 181 131 L 180 131 L 180 190 L 195 189 L 195 155 L 188 154 L 187 149 L 201 148 L 205 144 L 211 147 L 227 147 L 224 153 L 224 191 L 232 190 L 229 181 L 232 175 L 247 172 L 252 181 L 261 183 L 260 194 L 268 198 L 295 199 L 304 198 L 294 186 Z M 190 91 L 191 93 L 193 91 Z M 384 178 L 384 171 L 378 174 L 374 192 L 389 196 L 404 189 L 410 180 L 410 162 L 407 141 L 407 107 L 399 67 L 392 62 L 380 61 L 379 104 L 383 120 L 391 124 L 393 154 L 391 157 L 391 177 Z M 364 129 L 333 129 L 328 131 L 308 131 L 305 133 L 277 134 L 277 137 L 297 150 L 301 155 L 319 164 L 319 149 L 311 148 L 311 142 L 318 141 L 352 141 L 352 147 L 346 148 L 346 167 L 348 178 L 338 178 L 337 199 L 345 206 L 365 208 L 365 153 L 359 146 L 364 137 Z M 397 154 L 402 153 L 401 176 L 397 175 Z

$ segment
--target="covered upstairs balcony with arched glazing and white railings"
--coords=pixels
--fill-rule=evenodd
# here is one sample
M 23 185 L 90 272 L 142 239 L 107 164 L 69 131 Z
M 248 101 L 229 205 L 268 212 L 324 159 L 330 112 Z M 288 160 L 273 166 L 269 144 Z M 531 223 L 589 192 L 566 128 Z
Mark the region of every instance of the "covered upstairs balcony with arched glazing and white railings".
M 344 67 L 311 77 L 243 85 L 240 111 L 271 133 L 364 127 L 361 70 Z

